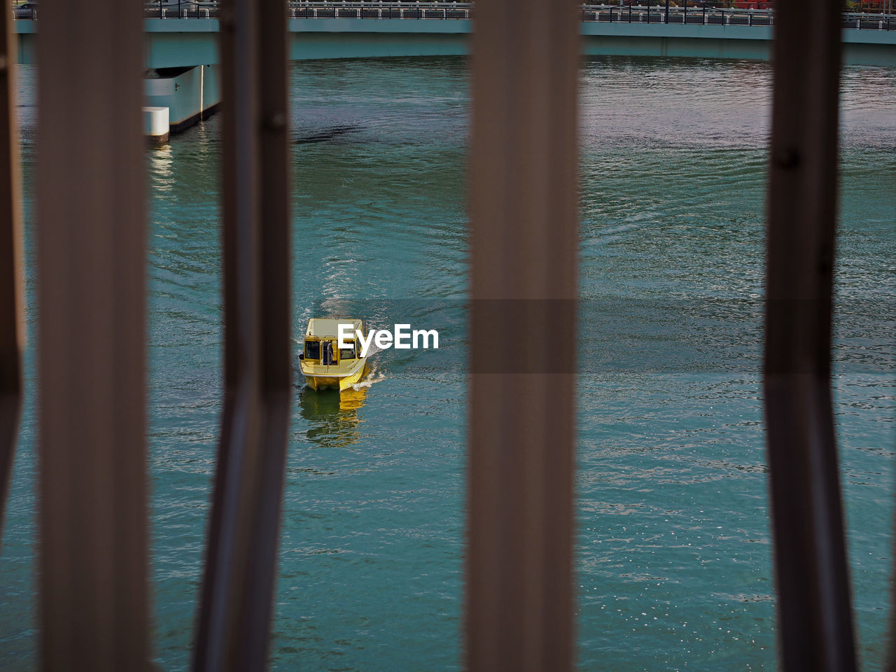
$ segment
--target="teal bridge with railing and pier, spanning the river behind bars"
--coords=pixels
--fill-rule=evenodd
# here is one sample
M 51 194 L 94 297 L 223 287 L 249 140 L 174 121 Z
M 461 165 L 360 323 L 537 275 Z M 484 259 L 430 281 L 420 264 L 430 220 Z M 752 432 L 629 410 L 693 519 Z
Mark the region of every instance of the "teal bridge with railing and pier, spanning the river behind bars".
M 643 2 L 643 0 L 642 0 Z M 47 11 L 52 11 L 48 9 Z M 289 12 L 292 60 L 386 56 L 465 56 L 473 4 L 298 2 Z M 545 11 L 550 11 L 546 4 Z M 774 13 L 667 7 L 656 4 L 582 4 L 586 56 L 675 56 L 768 59 Z M 217 4 L 162 0 L 146 5 L 146 94 L 168 108 L 156 125 L 191 125 L 220 101 Z M 31 20 L 29 20 L 31 19 Z M 37 62 L 38 16 L 15 22 L 18 60 Z M 843 57 L 848 65 L 896 67 L 896 15 L 844 14 Z

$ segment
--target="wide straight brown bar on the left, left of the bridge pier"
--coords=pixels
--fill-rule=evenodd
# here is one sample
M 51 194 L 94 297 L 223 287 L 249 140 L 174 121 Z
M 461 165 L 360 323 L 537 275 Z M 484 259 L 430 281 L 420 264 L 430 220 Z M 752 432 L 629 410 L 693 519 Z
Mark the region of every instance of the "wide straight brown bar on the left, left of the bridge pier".
M 142 8 L 41 13 L 41 665 L 149 665 Z

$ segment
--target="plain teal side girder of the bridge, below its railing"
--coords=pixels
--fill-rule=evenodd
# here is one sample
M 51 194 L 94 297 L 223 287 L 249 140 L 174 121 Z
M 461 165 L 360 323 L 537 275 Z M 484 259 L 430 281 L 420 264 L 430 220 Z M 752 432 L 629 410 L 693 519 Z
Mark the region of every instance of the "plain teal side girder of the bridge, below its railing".
M 39 22 L 16 22 L 19 62 L 37 62 Z M 217 65 L 218 21 L 149 19 L 145 22 L 148 69 Z M 292 19 L 289 57 L 370 58 L 466 56 L 471 23 L 466 20 Z M 896 67 L 896 30 L 844 30 L 848 65 Z M 771 29 L 719 25 L 583 23 L 586 56 L 672 56 L 767 60 Z

